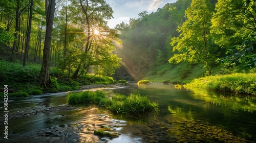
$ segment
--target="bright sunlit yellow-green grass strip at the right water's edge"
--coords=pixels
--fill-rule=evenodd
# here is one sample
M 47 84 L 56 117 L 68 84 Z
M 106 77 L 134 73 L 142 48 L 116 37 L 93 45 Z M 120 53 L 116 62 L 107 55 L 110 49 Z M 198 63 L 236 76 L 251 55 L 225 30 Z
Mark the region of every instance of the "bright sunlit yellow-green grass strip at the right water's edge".
M 185 85 L 193 90 L 200 88 L 213 91 L 236 92 L 256 95 L 256 74 L 229 74 L 195 79 Z

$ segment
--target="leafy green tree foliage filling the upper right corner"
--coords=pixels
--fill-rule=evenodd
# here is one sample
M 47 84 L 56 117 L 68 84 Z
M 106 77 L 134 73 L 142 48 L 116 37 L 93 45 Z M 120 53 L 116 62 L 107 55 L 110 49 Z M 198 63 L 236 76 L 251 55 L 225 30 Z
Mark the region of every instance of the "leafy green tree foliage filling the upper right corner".
M 214 42 L 226 51 L 228 65 L 255 65 L 256 7 L 255 1 L 218 1 L 211 22 Z

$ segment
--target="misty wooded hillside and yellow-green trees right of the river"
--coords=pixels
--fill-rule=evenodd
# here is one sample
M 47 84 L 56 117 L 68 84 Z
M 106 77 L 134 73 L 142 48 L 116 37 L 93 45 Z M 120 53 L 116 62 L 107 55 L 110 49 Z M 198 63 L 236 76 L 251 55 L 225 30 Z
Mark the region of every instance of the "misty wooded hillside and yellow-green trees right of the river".
M 248 71 L 256 64 L 254 3 L 179 0 L 120 23 L 123 48 L 117 53 L 130 61 L 123 60 L 116 77 L 186 83 L 220 71 Z

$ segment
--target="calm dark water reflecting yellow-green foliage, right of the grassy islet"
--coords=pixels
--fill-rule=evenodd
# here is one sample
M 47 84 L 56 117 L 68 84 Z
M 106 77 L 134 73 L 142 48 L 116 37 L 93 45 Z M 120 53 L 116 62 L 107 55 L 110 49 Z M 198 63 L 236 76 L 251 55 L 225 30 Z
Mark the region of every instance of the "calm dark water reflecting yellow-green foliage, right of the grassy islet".
M 255 97 L 206 91 L 191 92 L 186 89 L 176 89 L 174 85 L 163 84 L 132 85 L 132 88 L 117 89 L 114 92 L 124 93 L 127 96 L 139 92 L 147 95 L 152 102 L 158 102 L 160 114 L 156 124 L 161 122 L 167 127 L 167 134 L 180 136 L 185 133 L 192 139 L 196 134 L 205 135 L 204 140 L 211 138 L 213 140 L 208 140 L 211 142 L 222 142 L 224 140 L 216 140 L 216 138 L 223 136 L 231 140 L 236 138 L 234 135 L 246 138 L 248 142 L 256 140 Z M 152 117 L 150 118 L 146 121 L 147 125 L 152 122 Z M 158 126 L 156 124 L 154 123 L 154 126 Z M 207 130 L 207 133 L 201 133 L 197 128 Z M 182 138 L 176 139 L 182 140 Z M 240 141 L 245 140 L 240 138 Z

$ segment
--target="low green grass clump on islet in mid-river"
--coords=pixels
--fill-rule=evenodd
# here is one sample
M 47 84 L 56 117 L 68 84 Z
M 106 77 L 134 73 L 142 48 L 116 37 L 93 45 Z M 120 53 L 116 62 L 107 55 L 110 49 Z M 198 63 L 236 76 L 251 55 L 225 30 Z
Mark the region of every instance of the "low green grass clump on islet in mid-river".
M 108 97 L 102 91 L 72 92 L 67 95 L 68 104 L 95 103 L 113 113 L 144 113 L 146 111 L 159 112 L 159 105 L 151 103 L 147 96 L 131 94 L 126 97 L 123 94 L 115 94 Z

